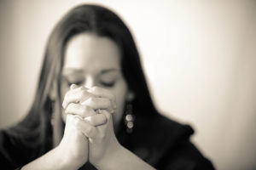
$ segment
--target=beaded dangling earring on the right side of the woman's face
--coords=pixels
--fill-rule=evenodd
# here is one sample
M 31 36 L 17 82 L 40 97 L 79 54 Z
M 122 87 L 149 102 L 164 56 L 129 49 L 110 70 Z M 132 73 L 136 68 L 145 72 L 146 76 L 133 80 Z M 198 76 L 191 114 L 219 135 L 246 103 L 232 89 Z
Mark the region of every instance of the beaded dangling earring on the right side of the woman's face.
M 135 122 L 135 116 L 132 113 L 132 105 L 128 104 L 126 105 L 126 110 L 125 110 L 125 126 L 126 126 L 127 133 L 132 133 L 134 122 Z

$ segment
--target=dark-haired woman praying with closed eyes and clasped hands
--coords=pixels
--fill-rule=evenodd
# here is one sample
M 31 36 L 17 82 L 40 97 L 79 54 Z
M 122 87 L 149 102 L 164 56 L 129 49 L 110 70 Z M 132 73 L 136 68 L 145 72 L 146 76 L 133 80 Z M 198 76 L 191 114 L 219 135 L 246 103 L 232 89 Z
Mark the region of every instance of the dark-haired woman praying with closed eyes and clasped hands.
M 107 8 L 73 8 L 49 37 L 31 111 L 3 130 L 9 169 L 213 169 L 193 130 L 155 110 L 131 33 Z

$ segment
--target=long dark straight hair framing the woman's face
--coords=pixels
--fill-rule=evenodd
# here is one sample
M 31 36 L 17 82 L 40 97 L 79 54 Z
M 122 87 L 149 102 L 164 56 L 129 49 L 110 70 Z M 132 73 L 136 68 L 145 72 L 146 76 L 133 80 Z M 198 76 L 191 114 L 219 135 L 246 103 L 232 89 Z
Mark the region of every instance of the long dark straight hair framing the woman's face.
M 52 114 L 49 92 L 55 82 L 58 89 L 56 95 L 59 99 L 61 96 L 61 69 L 65 45 L 74 35 L 87 31 L 100 37 L 109 37 L 118 44 L 122 55 L 122 73 L 128 87 L 135 94 L 132 101 L 135 115 L 157 115 L 148 92 L 136 44 L 125 23 L 107 8 L 81 5 L 70 10 L 50 34 L 32 108 L 22 122 L 9 130 L 9 133 L 19 137 L 23 144 L 30 147 L 44 144 Z M 61 107 L 60 104 L 58 106 Z

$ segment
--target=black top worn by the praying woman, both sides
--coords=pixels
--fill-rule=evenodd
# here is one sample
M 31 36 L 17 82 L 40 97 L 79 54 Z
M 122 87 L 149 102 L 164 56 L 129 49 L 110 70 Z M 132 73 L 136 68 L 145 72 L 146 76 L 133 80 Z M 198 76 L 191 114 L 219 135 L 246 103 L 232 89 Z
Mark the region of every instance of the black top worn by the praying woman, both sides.
M 131 134 L 125 130 L 118 135 L 120 144 L 157 169 L 214 169 L 212 163 L 201 155 L 195 145 L 189 141 L 194 133 L 188 125 L 182 125 L 164 116 L 154 119 L 137 117 Z M 48 141 L 42 145 L 44 153 L 52 149 L 52 132 L 48 133 Z M 15 169 L 41 156 L 40 147 L 24 146 L 8 131 L 0 132 L 0 167 Z M 86 169 L 95 169 L 88 163 Z

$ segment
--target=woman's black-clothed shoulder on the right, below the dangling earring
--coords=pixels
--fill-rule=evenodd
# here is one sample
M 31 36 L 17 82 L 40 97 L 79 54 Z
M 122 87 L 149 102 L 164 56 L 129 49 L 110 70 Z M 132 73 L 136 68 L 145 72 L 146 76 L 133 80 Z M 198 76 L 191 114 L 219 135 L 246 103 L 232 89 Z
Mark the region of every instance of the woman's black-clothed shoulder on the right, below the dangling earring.
M 194 130 L 189 125 L 160 115 L 148 120 L 138 117 L 136 125 L 133 138 L 137 144 L 134 144 L 134 152 L 154 167 L 214 169 L 211 162 L 190 142 L 189 137 Z

